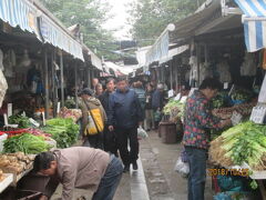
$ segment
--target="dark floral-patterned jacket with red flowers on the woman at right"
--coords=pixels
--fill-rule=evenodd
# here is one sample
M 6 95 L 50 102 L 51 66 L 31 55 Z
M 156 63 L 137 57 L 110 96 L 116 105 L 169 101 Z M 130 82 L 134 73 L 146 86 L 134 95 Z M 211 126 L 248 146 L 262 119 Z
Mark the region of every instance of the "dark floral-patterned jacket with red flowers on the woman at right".
M 209 100 L 195 91 L 186 102 L 183 143 L 186 147 L 208 149 L 206 129 L 218 129 L 219 119 L 212 114 Z

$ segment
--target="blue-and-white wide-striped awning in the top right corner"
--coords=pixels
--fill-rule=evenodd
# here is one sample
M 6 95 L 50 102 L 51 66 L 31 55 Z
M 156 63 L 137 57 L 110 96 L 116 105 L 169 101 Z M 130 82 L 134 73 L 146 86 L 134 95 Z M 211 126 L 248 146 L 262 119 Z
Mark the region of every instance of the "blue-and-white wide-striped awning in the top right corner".
M 245 43 L 248 52 L 266 48 L 266 0 L 235 0 L 244 12 Z

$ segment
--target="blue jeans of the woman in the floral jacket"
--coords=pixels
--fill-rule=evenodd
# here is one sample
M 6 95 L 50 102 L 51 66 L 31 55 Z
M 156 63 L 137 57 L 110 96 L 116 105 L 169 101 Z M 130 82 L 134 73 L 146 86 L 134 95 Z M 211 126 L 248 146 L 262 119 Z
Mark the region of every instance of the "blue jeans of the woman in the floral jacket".
M 207 150 L 185 147 L 188 158 L 188 200 L 204 200 Z

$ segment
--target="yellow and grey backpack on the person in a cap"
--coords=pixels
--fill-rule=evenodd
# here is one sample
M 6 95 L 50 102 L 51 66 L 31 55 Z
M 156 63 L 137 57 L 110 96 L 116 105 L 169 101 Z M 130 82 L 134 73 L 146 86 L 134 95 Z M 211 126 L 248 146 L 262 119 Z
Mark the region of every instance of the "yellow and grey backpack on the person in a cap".
M 84 101 L 88 108 L 88 126 L 85 128 L 85 136 L 99 134 L 103 131 L 104 124 L 100 109 L 91 109 L 89 103 Z

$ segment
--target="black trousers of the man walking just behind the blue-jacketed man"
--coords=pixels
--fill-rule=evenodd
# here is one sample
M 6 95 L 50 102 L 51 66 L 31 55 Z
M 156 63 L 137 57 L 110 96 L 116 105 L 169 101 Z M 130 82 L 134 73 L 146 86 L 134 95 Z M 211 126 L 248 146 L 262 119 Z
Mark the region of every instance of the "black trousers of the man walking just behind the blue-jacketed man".
M 117 157 L 117 142 L 114 131 L 110 131 L 108 127 L 103 131 L 103 149 Z

